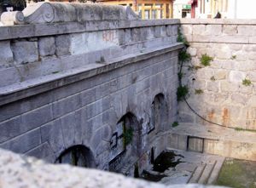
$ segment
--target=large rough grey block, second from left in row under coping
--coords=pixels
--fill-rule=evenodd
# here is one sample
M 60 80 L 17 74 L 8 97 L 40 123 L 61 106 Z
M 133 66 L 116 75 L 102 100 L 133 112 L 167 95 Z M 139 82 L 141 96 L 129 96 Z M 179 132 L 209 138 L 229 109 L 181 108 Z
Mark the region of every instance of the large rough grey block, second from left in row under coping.
M 15 41 L 11 48 L 18 65 L 38 61 L 38 42 Z

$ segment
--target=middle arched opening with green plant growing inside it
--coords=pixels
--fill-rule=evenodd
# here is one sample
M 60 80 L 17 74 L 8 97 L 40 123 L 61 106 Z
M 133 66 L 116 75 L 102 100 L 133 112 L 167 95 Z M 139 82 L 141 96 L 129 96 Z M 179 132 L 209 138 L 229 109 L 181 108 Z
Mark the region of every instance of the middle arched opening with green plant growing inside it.
M 109 170 L 125 174 L 123 168 L 134 164 L 142 151 L 142 125 L 137 117 L 127 112 L 119 119 L 111 141 Z

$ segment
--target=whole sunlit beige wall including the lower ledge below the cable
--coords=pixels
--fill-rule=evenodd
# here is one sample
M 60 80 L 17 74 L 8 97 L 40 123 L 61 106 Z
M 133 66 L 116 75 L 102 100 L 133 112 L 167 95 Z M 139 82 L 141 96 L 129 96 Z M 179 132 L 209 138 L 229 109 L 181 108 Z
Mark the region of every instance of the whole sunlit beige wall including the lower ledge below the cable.
M 172 147 L 256 160 L 255 23 L 181 20 L 191 55 L 182 79 L 189 95 L 188 104 L 178 103 L 183 126 L 173 128 Z M 204 54 L 210 66 L 201 65 Z

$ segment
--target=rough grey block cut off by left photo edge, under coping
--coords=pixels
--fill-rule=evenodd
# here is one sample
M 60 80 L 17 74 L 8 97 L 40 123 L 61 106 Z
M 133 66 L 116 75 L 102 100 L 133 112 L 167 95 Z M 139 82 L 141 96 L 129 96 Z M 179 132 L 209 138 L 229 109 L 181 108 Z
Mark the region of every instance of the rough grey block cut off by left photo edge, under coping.
M 0 68 L 9 66 L 9 63 L 14 60 L 13 52 L 10 48 L 9 41 L 0 42 Z

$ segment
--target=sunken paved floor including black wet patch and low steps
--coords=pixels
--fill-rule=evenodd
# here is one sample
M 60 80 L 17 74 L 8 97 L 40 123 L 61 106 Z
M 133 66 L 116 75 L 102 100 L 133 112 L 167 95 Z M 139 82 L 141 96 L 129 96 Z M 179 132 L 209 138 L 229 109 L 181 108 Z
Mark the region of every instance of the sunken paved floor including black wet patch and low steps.
M 224 157 L 169 149 L 160 153 L 140 178 L 165 185 L 207 183 L 217 179 L 223 162 Z

